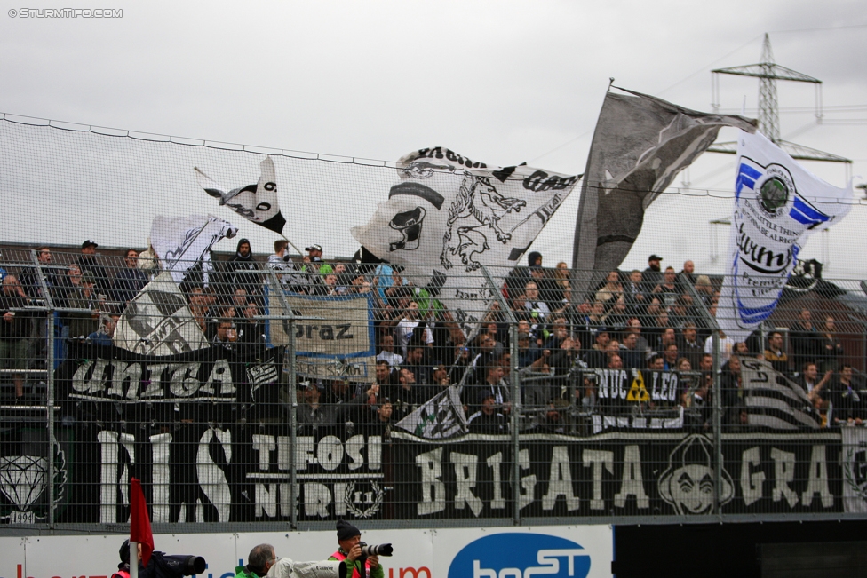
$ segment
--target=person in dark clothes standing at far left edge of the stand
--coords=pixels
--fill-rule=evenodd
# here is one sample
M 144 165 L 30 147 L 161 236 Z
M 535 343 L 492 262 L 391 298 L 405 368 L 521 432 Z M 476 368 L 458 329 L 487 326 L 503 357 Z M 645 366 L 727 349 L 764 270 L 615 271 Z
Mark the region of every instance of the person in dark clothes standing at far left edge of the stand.
M 28 364 L 30 315 L 24 311 L 30 300 L 15 275 L 7 274 L 0 292 L 0 368 L 12 370 L 15 398 L 24 396 L 24 370 Z M 20 371 L 20 373 L 15 373 Z

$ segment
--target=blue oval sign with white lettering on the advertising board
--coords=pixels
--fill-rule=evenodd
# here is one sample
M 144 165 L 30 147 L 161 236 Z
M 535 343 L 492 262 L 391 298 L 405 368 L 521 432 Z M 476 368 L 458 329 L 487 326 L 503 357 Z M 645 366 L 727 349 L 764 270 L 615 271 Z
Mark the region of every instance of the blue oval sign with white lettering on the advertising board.
M 449 566 L 449 578 L 585 578 L 590 554 L 571 540 L 528 533 L 493 534 L 467 544 Z

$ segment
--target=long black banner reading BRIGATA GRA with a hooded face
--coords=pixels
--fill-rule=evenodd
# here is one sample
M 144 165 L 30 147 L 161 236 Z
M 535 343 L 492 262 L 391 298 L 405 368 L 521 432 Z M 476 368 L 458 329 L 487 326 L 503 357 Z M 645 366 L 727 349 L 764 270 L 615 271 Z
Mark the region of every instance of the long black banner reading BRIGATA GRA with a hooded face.
M 398 518 L 513 515 L 507 436 L 449 444 L 393 438 Z M 722 446 L 722 513 L 842 511 L 839 433 L 728 434 Z M 712 455 L 703 434 L 521 436 L 521 516 L 714 513 Z

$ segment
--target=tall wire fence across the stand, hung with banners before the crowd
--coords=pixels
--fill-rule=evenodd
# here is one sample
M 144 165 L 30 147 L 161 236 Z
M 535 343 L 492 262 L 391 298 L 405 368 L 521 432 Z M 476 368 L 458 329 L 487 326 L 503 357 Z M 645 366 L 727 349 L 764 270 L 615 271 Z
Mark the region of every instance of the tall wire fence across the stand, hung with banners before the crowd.
M 0 263 L 15 531 L 118 529 L 131 477 L 163 531 L 867 509 L 855 282 L 792 277 L 736 343 L 721 280 L 686 271 L 610 272 L 575 303 L 565 268 L 444 289 L 285 244 L 186 266 L 84 245 Z

